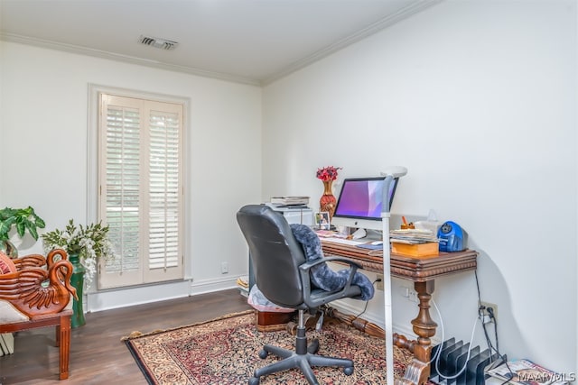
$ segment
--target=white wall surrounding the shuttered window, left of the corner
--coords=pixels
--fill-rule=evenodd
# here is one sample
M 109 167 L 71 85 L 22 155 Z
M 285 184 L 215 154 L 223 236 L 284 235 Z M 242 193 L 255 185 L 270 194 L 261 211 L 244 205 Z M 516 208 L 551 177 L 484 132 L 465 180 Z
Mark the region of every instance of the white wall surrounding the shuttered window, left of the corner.
M 247 274 L 235 213 L 261 196 L 261 89 L 111 60 L 0 41 L 0 206 L 28 206 L 47 231 L 86 223 L 89 84 L 182 96 L 191 101 L 185 146 L 186 275 L 181 291 L 107 292 L 91 309 L 234 286 Z M 223 240 L 226 239 L 227 242 Z M 32 238 L 21 255 L 42 252 Z M 228 261 L 228 274 L 220 262 Z

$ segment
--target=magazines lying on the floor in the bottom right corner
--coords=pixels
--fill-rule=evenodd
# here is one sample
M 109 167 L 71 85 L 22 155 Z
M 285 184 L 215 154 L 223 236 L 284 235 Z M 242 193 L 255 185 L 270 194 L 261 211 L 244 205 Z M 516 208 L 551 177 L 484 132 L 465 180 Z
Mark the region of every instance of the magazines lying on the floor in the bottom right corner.
M 529 360 L 515 360 L 502 363 L 497 368 L 486 371 L 489 378 L 486 383 L 510 383 L 524 385 L 567 384 L 576 380 L 575 374 L 564 374 L 550 371 Z

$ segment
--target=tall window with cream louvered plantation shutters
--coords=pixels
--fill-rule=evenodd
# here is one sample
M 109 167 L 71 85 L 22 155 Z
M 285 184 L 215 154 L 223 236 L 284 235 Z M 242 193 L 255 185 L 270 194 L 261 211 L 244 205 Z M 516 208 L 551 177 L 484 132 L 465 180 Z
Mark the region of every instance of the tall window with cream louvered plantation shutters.
M 183 104 L 98 96 L 98 219 L 117 252 L 98 289 L 182 279 Z

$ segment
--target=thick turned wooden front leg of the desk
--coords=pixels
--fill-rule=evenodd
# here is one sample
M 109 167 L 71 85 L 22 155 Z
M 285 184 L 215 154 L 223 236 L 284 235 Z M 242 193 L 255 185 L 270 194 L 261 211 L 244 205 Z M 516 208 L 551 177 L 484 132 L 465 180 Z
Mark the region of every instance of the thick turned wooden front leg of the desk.
M 430 316 L 430 299 L 434 289 L 433 280 L 426 282 L 415 282 L 415 291 L 419 298 L 419 313 L 412 320 L 414 333 L 417 337 L 417 344 L 413 344 L 412 352 L 414 360 L 407 366 L 406 375 L 403 380 L 396 380 L 397 384 L 423 385 L 430 376 L 430 359 L 432 356 L 432 341 L 430 337 L 435 335 L 437 324 Z

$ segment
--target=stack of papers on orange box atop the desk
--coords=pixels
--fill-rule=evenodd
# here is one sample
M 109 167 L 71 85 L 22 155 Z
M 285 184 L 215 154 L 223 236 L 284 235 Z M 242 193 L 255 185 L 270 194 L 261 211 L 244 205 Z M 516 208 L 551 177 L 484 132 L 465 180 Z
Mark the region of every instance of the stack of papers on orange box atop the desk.
M 399 229 L 389 232 L 391 252 L 412 257 L 435 256 L 440 253 L 438 239 L 432 230 Z

